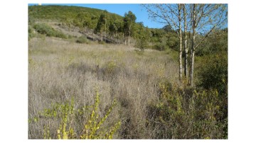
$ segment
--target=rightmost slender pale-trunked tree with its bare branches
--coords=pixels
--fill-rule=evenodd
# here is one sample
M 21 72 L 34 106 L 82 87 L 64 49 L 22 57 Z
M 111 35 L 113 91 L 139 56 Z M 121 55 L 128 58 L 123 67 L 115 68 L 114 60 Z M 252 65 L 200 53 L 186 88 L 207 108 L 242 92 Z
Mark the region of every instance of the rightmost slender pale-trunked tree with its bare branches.
M 191 4 L 192 19 L 192 45 L 191 45 L 191 71 L 190 85 L 193 86 L 193 72 L 196 48 L 206 40 L 215 28 L 221 28 L 227 22 L 228 8 L 226 4 Z M 200 40 L 196 35 L 201 33 Z

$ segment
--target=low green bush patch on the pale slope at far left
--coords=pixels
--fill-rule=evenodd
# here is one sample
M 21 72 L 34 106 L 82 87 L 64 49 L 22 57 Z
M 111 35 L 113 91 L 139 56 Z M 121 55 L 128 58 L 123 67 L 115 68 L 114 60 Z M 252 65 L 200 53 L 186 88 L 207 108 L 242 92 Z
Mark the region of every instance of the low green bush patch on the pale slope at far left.
M 56 37 L 56 38 L 67 38 L 67 35 L 63 34 L 62 32 L 51 28 L 49 25 L 45 23 L 37 23 L 33 25 L 35 30 L 43 35 L 47 35 L 49 37 Z

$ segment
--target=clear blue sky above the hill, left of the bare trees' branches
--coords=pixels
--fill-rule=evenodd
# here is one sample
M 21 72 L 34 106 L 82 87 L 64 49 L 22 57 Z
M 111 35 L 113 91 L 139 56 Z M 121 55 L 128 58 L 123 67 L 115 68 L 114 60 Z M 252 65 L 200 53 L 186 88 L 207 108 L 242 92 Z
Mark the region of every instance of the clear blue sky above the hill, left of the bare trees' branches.
M 28 4 L 28 6 L 35 4 Z M 146 9 L 143 8 L 140 4 L 42 4 L 42 5 L 66 5 L 66 6 L 83 6 L 89 8 L 98 8 L 102 10 L 107 10 L 110 13 L 117 13 L 120 16 L 124 16 L 124 13 L 132 11 L 137 17 L 136 22 L 143 22 L 144 26 L 149 28 L 162 28 L 164 25 L 161 23 L 156 23 L 151 21 L 146 12 Z

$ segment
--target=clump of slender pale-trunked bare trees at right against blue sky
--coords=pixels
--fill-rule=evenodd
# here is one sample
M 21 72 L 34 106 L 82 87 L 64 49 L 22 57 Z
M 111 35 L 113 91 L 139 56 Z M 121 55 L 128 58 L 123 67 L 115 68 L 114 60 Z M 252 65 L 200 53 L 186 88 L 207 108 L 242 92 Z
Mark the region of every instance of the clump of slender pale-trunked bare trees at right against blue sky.
M 227 4 L 143 4 L 142 6 L 146 8 L 149 13 L 149 17 L 153 18 L 154 21 L 167 24 L 176 31 L 180 41 L 178 56 L 180 81 L 182 80 L 181 27 L 184 28 L 184 47 L 186 52 L 184 69 L 186 77 L 188 76 L 188 46 L 186 33 L 187 30 L 192 30 L 190 32 L 192 33 L 192 40 L 189 84 L 193 86 L 196 49 L 204 40 L 206 40 L 208 35 L 212 33 L 215 28 L 221 28 L 226 24 L 228 15 Z M 182 11 L 183 16 L 181 16 Z M 198 33 L 201 33 L 200 39 L 196 38 Z

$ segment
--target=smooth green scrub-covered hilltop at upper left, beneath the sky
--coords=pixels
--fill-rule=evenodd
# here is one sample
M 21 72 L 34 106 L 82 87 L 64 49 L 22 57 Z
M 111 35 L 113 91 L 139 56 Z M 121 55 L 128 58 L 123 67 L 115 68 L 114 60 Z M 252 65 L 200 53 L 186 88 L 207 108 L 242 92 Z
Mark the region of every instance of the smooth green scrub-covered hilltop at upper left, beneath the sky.
M 53 20 L 92 29 L 96 27 L 100 14 L 104 12 L 100 9 L 79 6 L 28 6 L 29 21 Z M 122 16 L 109 12 L 107 15 L 109 19 L 122 21 Z

